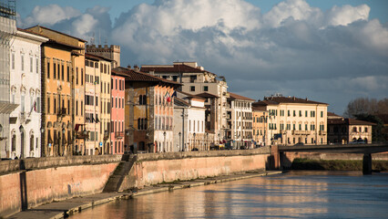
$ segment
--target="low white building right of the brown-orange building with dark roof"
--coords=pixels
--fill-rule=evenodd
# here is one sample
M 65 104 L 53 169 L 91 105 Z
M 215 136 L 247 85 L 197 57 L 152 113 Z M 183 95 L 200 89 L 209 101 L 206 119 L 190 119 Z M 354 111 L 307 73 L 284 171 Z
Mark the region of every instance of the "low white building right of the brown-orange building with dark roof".
M 213 142 L 205 129 L 205 99 L 177 91 L 174 100 L 173 151 L 208 151 Z

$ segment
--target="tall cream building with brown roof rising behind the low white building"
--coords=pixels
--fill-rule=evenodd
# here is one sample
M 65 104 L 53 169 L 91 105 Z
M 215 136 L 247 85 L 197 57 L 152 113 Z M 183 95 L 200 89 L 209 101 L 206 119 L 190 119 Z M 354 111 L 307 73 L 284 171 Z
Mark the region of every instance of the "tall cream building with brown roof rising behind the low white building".
M 182 83 L 181 91 L 192 94 L 210 94 L 217 99 L 214 110 L 210 110 L 209 102 L 205 101 L 206 120 L 212 121 L 205 128 L 213 134 L 214 141 L 221 141 L 226 138 L 227 131 L 227 83 L 225 78 L 198 66 L 197 62 L 174 62 L 173 65 L 144 65 L 142 72 L 155 74 L 160 78 L 165 78 Z

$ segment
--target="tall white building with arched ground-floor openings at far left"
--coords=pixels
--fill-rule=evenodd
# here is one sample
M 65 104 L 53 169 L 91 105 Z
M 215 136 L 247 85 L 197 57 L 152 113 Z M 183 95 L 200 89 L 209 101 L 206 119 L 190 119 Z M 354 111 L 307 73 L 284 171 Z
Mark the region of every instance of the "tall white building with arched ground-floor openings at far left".
M 41 50 L 48 39 L 22 29 L 10 53 L 10 100 L 19 105 L 10 114 L 10 158 L 40 157 Z

